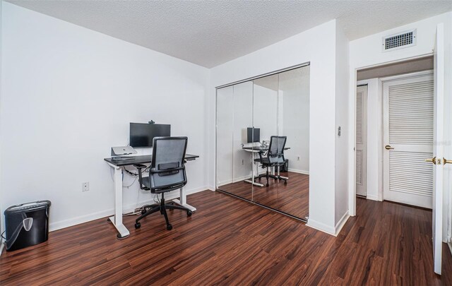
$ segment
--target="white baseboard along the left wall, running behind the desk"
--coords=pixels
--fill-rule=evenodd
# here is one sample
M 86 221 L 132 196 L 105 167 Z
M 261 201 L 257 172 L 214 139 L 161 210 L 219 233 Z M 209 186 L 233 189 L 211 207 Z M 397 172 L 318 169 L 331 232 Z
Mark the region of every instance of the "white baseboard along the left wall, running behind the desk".
M 206 189 L 210 189 L 208 186 L 203 186 L 196 189 L 190 189 L 185 190 L 187 195 L 191 195 L 192 193 L 198 193 L 200 191 L 206 191 Z M 174 193 L 169 193 L 168 196 L 165 196 L 165 199 L 172 200 L 174 198 L 179 198 L 179 191 L 174 191 Z M 153 200 L 145 200 L 145 201 L 139 201 L 138 205 L 145 205 L 149 203 L 154 203 Z M 123 205 L 123 212 L 124 213 L 130 213 L 136 208 L 136 203 L 131 203 L 129 205 Z M 51 222 L 49 224 L 49 231 L 53 232 L 54 230 L 61 230 L 66 227 L 72 227 L 73 225 L 80 225 L 84 222 L 90 222 L 92 220 L 98 220 L 100 218 L 107 218 L 111 215 L 114 215 L 114 208 L 109 208 L 107 210 L 101 210 L 96 213 L 90 213 L 88 215 L 81 215 L 76 218 L 71 218 L 69 220 L 61 220 L 59 222 Z

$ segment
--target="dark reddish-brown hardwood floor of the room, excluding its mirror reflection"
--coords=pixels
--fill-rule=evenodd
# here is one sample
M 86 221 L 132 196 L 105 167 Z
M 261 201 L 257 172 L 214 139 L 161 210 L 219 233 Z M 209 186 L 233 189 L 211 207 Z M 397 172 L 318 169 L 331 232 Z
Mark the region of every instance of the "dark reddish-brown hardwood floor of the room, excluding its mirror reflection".
M 105 219 L 0 256 L 1 285 L 452 285 L 433 272 L 432 212 L 357 199 L 338 237 L 220 192 L 189 196 L 198 211 L 160 214 L 118 240 Z

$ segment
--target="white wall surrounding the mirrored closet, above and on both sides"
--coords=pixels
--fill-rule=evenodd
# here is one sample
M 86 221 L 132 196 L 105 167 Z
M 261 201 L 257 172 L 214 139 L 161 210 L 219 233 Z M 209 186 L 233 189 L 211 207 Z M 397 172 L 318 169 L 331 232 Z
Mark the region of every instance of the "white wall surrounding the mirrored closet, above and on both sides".
M 215 86 L 310 62 L 309 225 L 335 233 L 335 20 L 211 69 Z M 321 35 L 321 37 L 319 37 Z M 215 110 L 215 100 L 210 102 Z M 214 122 L 211 115 L 210 122 Z M 210 124 L 215 134 L 215 124 Z M 215 139 L 210 152 L 215 153 Z M 211 174 L 215 160 L 210 160 Z M 213 184 L 213 178 L 210 184 Z

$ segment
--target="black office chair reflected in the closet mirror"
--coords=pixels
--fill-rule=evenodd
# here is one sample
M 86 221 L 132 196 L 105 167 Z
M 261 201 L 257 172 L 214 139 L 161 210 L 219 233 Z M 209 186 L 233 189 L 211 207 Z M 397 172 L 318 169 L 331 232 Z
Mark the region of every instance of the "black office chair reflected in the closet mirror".
M 267 179 L 266 186 L 269 186 L 268 178 L 273 178 L 273 179 L 275 179 L 275 181 L 283 180 L 284 184 L 287 185 L 288 178 L 281 177 L 279 175 L 280 166 L 285 164 L 285 158 L 284 158 L 285 141 L 287 141 L 287 136 L 271 136 L 267 155 L 264 157 L 263 153 L 259 152 L 259 158 L 254 160 L 254 162 L 261 163 L 263 168 L 267 168 L 266 174 L 260 174 L 260 175 L 258 175 L 258 177 L 256 177 L 256 179 L 259 179 L 259 180 L 261 180 L 262 177 L 266 177 L 266 179 Z M 269 174 L 268 173 L 269 167 L 278 168 L 278 175 Z

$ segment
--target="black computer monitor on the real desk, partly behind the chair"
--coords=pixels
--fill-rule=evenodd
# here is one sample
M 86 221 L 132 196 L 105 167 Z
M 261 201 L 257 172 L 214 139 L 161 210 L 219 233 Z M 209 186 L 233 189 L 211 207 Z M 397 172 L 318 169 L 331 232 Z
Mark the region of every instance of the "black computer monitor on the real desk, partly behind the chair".
M 171 125 L 130 123 L 130 145 L 133 148 L 153 146 L 154 137 L 171 136 Z

